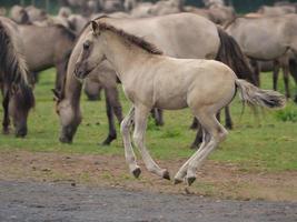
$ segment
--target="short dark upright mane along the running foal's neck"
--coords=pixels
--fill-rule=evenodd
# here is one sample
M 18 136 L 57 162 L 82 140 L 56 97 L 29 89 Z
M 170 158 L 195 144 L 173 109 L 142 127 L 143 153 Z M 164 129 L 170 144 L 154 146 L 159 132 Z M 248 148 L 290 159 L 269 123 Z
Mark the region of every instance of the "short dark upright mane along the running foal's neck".
M 140 47 L 141 49 L 146 50 L 151 54 L 164 54 L 164 52 L 160 49 L 158 49 L 155 44 L 146 41 L 143 38 L 127 33 L 126 31 L 117 29 L 116 27 L 112 27 L 106 22 L 98 22 L 98 26 L 100 31 L 105 30 L 111 31 L 118 34 L 119 37 L 123 38 L 128 42 L 136 44 L 137 47 Z

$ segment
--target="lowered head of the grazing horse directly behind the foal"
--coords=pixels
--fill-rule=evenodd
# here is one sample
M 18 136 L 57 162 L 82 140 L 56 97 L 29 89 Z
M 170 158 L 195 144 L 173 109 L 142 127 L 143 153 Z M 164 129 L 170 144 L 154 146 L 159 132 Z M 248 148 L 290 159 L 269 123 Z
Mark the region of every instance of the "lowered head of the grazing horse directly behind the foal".
M 56 112 L 60 118 L 61 132 L 60 142 L 71 143 L 78 125 L 81 122 L 81 114 L 78 109 L 76 112 L 71 102 L 62 97 L 62 94 L 56 90 L 52 90 L 56 100 Z

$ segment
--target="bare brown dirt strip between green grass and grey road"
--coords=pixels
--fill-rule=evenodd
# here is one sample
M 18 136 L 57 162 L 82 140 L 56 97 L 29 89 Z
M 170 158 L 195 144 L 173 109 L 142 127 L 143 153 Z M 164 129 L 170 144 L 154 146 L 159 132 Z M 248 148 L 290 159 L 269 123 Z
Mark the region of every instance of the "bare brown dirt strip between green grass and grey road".
M 185 162 L 161 161 L 171 175 Z M 0 180 L 63 182 L 72 185 L 112 186 L 155 193 L 191 194 L 231 200 L 266 200 L 297 202 L 297 172 L 247 171 L 236 164 L 206 161 L 192 186 L 174 185 L 145 169 L 140 179 L 128 172 L 121 155 L 81 155 L 51 152 L 0 152 Z

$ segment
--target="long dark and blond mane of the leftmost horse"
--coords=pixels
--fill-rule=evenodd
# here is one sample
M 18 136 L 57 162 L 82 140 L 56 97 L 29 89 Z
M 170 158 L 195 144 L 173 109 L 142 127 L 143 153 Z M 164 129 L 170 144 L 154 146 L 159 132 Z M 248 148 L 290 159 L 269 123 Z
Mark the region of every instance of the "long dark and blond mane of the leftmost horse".
M 22 54 L 18 52 L 17 43 L 10 36 L 8 28 L 0 20 L 0 68 L 3 73 L 3 82 L 9 90 L 19 89 L 19 105 L 32 108 L 34 97 L 29 82 L 29 72 Z

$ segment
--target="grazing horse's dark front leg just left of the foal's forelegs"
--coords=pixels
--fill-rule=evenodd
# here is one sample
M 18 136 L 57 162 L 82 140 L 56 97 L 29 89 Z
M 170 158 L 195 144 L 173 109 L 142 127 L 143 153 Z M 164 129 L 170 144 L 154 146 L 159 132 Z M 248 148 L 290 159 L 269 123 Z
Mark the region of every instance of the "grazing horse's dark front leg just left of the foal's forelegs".
M 112 113 L 112 107 L 109 101 L 109 97 L 107 97 L 107 91 L 106 92 L 106 112 L 107 112 L 107 119 L 108 119 L 108 137 L 107 139 L 102 142 L 103 145 L 109 145 L 112 140 L 117 139 L 117 131 L 115 127 L 115 119 L 113 119 L 113 113 Z

